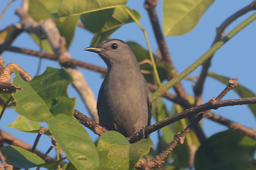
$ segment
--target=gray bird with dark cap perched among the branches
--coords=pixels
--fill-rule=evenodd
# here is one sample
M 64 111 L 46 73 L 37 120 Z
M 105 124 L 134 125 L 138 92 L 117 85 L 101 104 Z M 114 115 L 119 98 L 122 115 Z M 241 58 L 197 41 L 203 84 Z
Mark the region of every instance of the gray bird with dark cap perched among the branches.
M 108 66 L 97 102 L 99 124 L 125 137 L 150 125 L 151 97 L 148 84 L 128 44 L 112 39 L 84 50 L 99 54 Z

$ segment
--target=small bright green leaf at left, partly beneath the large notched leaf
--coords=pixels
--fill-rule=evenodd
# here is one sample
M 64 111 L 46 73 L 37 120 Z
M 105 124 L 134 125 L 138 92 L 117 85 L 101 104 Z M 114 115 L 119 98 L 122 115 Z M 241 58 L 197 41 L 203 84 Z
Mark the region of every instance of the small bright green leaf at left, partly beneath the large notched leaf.
M 11 125 L 7 125 L 23 132 L 29 133 L 38 133 L 39 128 L 41 127 L 38 122 L 29 120 L 28 118 L 19 115 Z

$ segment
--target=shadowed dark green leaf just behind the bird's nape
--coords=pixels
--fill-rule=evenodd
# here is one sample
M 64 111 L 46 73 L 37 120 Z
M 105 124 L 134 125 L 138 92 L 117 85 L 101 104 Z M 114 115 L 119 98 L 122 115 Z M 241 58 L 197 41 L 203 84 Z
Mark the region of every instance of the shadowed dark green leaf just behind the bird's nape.
M 136 42 L 128 41 L 127 44 L 130 46 L 131 50 L 134 52 L 137 61 L 141 62 L 145 59 L 150 60 L 149 53 L 147 50 L 145 50 L 141 45 L 139 45 Z M 169 68 L 167 65 L 165 65 L 163 62 L 156 61 L 157 71 L 159 74 L 159 78 L 161 82 L 166 80 L 171 74 L 172 74 L 172 68 Z M 153 68 L 148 63 L 144 63 L 140 65 L 140 68 L 142 70 L 151 71 L 153 72 Z M 150 82 L 151 84 L 154 84 L 154 77 L 153 74 L 143 74 L 147 82 Z

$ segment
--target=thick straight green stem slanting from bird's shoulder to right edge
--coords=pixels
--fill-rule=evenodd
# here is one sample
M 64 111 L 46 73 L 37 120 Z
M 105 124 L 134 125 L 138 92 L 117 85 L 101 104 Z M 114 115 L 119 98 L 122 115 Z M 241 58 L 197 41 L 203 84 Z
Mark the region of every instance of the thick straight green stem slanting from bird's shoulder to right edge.
M 206 61 L 209 57 L 212 56 L 219 48 L 221 48 L 226 42 L 228 42 L 231 38 L 233 38 L 237 33 L 239 33 L 243 28 L 248 26 L 256 19 L 256 13 L 252 14 L 246 20 L 244 20 L 241 24 L 236 26 L 232 31 L 230 31 L 225 37 L 221 38 L 218 42 L 216 42 L 212 47 L 204 53 L 198 60 L 196 60 L 192 65 L 190 65 L 186 70 L 177 75 L 175 78 L 163 84 L 161 88 L 158 88 L 157 91 L 152 95 L 152 102 L 154 102 L 158 97 L 165 94 L 170 88 L 180 82 L 182 79 L 187 77 L 192 71 L 199 67 L 204 61 Z

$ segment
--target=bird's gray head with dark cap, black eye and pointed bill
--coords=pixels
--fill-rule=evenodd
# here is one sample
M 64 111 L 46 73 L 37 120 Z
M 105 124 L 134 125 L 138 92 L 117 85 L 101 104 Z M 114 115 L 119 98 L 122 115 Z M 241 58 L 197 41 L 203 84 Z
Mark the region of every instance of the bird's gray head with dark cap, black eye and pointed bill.
M 84 50 L 99 54 L 108 67 L 113 66 L 115 63 L 129 64 L 130 62 L 137 62 L 129 45 L 118 39 L 111 39 L 100 45 L 84 48 Z

